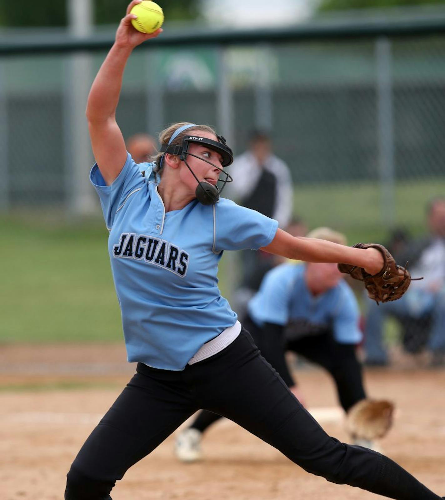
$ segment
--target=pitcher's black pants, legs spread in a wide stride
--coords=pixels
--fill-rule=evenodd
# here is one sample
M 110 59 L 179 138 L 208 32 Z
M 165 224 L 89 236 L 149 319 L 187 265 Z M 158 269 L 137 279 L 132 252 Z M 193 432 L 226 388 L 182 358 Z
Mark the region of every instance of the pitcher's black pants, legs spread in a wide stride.
M 329 481 L 400 500 L 439 498 L 383 455 L 329 437 L 243 329 L 224 350 L 183 371 L 138 363 L 74 460 L 66 500 L 110 500 L 115 481 L 200 408 L 234 420 Z

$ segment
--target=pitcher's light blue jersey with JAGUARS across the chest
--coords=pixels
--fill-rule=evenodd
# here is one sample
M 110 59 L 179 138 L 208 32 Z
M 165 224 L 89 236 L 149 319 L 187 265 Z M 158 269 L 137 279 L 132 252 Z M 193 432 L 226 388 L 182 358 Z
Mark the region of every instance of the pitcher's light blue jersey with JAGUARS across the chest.
M 165 213 L 152 173 L 130 154 L 111 186 L 94 165 L 129 361 L 182 370 L 237 315 L 218 288 L 223 250 L 258 249 L 278 222 L 221 198 Z M 145 170 L 145 176 L 141 174 Z

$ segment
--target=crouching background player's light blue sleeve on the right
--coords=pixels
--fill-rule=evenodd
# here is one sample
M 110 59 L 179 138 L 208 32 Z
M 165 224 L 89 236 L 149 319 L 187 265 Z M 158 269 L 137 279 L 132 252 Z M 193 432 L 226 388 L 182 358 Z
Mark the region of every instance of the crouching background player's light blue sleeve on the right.
M 340 343 L 359 343 L 362 333 L 359 328 L 360 310 L 351 288 L 344 282 L 339 283 L 338 302 L 333 317 L 335 340 Z

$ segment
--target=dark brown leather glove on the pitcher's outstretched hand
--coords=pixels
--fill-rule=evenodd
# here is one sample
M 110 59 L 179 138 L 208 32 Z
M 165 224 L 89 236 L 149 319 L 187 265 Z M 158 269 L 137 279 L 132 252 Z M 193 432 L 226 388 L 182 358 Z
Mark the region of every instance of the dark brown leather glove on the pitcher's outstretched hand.
M 405 293 L 411 282 L 411 275 L 405 267 L 395 263 L 394 257 L 383 245 L 378 243 L 356 243 L 353 247 L 374 247 L 380 250 L 383 255 L 383 267 L 377 274 L 368 274 L 362 267 L 355 265 L 338 264 L 338 269 L 341 272 L 350 274 L 354 279 L 364 282 L 370 298 L 378 304 L 379 302 L 397 300 Z

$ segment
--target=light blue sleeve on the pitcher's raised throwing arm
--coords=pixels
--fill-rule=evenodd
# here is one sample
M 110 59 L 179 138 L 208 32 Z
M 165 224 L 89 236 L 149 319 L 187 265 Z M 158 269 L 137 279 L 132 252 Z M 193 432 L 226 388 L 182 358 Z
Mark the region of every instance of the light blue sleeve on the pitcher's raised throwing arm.
M 149 166 L 150 164 L 144 165 Z M 144 185 L 144 177 L 140 166 L 134 162 L 130 153 L 127 152 L 127 160 L 122 170 L 109 186 L 106 184 L 97 163 L 91 169 L 90 181 L 99 194 L 108 229 L 113 227 L 116 211 L 125 202 L 126 198 L 135 189 L 140 189 Z

